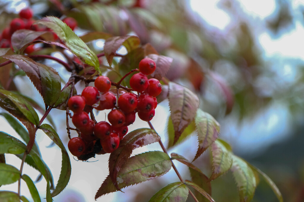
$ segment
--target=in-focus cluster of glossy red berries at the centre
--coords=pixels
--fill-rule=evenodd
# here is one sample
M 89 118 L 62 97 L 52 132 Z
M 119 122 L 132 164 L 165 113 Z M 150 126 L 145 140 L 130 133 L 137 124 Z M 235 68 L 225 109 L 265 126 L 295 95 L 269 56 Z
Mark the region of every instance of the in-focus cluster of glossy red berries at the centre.
M 68 107 L 74 112 L 72 122 L 81 132 L 80 137 L 71 138 L 68 148 L 74 156 L 111 153 L 119 146 L 119 141 L 128 132 L 128 126 L 135 121 L 135 114 L 143 121 L 150 121 L 157 106 L 156 96 L 162 89 L 161 83 L 147 75 L 155 71 L 155 62 L 144 58 L 139 63 L 140 73 L 130 79 L 130 86 L 137 94 L 128 92 L 121 94 L 116 106 L 116 96 L 112 94 L 111 81 L 106 76 L 95 79 L 95 87 L 86 87 L 80 95 L 72 96 L 68 100 Z M 108 122 L 95 123 L 84 111 L 85 105 L 97 110 L 112 109 L 108 114 Z M 97 143 L 97 144 L 96 144 Z M 81 160 L 84 158 L 80 157 Z M 85 158 L 86 159 L 86 158 Z

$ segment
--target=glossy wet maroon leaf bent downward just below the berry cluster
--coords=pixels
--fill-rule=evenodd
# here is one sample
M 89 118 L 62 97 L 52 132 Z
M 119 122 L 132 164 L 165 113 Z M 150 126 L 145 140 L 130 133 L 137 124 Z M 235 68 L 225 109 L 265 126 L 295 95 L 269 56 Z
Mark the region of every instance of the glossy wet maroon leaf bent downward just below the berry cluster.
M 159 141 L 161 138 L 150 128 L 140 128 L 126 134 L 119 143 L 119 147 L 110 154 L 109 176 L 117 187 L 116 177 L 120 169 L 136 148 Z

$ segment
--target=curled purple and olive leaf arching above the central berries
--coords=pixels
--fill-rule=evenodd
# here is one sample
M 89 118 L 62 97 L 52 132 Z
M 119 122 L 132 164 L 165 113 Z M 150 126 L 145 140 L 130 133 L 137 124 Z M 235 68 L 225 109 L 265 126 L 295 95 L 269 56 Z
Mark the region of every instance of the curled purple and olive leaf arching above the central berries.
M 131 50 L 137 48 L 140 45 L 140 40 L 137 36 L 130 35 L 114 36 L 105 40 L 105 45 L 103 49 L 110 67 L 112 65 L 112 60 L 116 51 L 122 45 L 126 47 L 128 52 L 130 52 Z

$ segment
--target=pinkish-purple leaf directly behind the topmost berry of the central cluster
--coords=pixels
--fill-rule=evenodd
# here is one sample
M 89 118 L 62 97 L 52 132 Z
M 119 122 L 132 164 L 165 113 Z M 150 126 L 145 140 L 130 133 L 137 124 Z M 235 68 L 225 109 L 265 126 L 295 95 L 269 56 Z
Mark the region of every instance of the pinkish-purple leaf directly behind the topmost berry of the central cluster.
M 172 58 L 169 58 L 164 55 L 157 55 L 157 54 L 147 55 L 147 58 L 151 58 L 152 60 L 155 61 L 156 69 L 150 76 L 158 80 L 161 80 L 161 78 L 163 78 L 166 75 L 173 61 Z

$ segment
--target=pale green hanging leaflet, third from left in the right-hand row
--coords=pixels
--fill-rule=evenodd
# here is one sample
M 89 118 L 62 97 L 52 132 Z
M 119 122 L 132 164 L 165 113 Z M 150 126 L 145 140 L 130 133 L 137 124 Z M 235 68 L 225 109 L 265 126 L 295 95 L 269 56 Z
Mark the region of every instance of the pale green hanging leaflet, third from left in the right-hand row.
M 232 166 L 233 161 L 231 152 L 219 140 L 212 143 L 211 153 L 213 165 L 210 181 L 226 173 Z

